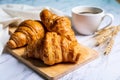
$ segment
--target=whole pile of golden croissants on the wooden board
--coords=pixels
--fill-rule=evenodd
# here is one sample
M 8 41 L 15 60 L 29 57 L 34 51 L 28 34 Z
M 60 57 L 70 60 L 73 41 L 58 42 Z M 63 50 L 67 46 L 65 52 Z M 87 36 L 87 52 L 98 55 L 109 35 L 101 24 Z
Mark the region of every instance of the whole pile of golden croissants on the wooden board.
M 41 11 L 40 19 L 20 23 L 7 46 L 12 49 L 26 46 L 25 56 L 40 59 L 47 65 L 77 62 L 85 50 L 77 42 L 70 20 L 47 9 Z

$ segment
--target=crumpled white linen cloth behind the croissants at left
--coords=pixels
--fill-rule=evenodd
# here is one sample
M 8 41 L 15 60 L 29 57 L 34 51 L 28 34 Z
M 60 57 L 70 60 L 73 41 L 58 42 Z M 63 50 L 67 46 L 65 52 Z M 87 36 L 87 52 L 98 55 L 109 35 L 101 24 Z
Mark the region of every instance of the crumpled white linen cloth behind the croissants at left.
M 50 7 L 32 7 L 17 4 L 0 5 L 0 54 L 2 54 L 4 46 L 9 39 L 8 25 L 26 19 L 40 20 L 40 11 L 45 8 L 59 16 L 66 16 L 63 12 Z

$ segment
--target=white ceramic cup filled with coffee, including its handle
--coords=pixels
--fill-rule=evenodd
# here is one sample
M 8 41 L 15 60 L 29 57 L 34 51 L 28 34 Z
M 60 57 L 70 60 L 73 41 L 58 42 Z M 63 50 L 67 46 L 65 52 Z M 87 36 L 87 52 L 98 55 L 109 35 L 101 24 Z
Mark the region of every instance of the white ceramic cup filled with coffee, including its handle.
M 103 19 L 109 16 L 110 26 L 113 22 L 113 15 L 105 13 L 103 9 L 90 6 L 77 6 L 72 9 L 72 24 L 74 29 L 83 35 L 91 35 L 98 30 Z

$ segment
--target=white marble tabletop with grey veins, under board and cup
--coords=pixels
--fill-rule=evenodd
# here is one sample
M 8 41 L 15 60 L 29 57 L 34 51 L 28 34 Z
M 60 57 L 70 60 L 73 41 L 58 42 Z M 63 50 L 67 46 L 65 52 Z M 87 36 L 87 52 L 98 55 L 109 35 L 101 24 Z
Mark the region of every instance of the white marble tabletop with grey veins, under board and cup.
M 112 25 L 120 24 L 120 4 L 115 0 L 0 0 L 0 4 L 28 4 L 50 6 L 71 15 L 71 8 L 80 5 L 98 6 L 112 13 L 115 20 Z M 107 21 L 107 20 L 106 20 Z M 104 25 L 105 22 L 102 24 Z M 65 75 L 60 80 L 120 80 L 120 33 L 109 55 L 104 56 L 101 48 L 91 46 L 90 36 L 76 36 L 78 41 L 98 51 L 96 60 Z M 0 80 L 45 80 L 32 69 L 18 61 L 9 53 L 0 56 Z

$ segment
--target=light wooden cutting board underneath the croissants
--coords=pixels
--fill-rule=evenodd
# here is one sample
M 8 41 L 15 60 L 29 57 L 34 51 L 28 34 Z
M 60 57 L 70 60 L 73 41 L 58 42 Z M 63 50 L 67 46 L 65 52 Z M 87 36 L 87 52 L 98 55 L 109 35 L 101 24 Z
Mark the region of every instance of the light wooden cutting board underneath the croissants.
M 82 45 L 81 45 L 82 46 Z M 82 46 L 82 49 L 86 50 L 87 53 L 82 53 L 80 56 L 79 61 L 76 64 L 72 63 L 60 63 L 53 66 L 47 66 L 43 64 L 42 61 L 36 60 L 36 59 L 26 59 L 23 57 L 25 47 L 18 48 L 18 49 L 10 49 L 6 47 L 6 49 L 18 60 L 25 63 L 27 66 L 38 72 L 40 75 L 44 76 L 45 78 L 49 80 L 56 80 L 73 70 L 76 70 L 77 68 L 80 68 L 84 64 L 91 62 L 92 60 L 96 59 L 98 57 L 98 53 L 90 49 L 86 46 Z

